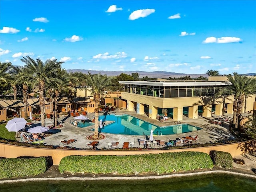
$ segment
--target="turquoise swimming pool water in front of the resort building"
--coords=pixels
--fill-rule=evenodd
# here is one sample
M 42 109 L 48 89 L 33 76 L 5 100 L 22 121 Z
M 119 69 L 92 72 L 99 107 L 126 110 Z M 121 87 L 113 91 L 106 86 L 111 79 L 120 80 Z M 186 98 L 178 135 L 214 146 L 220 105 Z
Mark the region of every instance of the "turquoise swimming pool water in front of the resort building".
M 202 128 L 192 126 L 190 124 L 178 124 L 174 126 L 158 127 L 138 118 L 129 115 L 102 115 L 99 116 L 99 121 L 113 121 L 113 123 L 104 125 L 100 132 L 124 135 L 150 135 L 151 129 L 154 135 L 172 135 L 179 133 L 187 133 L 197 131 Z M 100 125 L 100 122 L 99 122 Z M 82 123 L 82 127 L 83 123 Z

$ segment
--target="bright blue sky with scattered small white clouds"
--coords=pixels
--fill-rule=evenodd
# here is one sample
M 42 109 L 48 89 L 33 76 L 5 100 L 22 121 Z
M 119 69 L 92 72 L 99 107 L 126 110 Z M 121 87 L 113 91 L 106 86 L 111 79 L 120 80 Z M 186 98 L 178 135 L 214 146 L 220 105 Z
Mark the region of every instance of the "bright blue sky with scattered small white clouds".
M 0 0 L 0 60 L 65 69 L 256 72 L 255 0 Z

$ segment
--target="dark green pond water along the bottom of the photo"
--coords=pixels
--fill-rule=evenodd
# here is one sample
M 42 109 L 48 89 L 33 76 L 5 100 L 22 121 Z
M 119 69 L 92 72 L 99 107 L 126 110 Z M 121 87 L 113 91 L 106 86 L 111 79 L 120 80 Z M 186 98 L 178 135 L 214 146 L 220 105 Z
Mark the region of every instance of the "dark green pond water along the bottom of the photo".
M 156 180 L 44 181 L 1 184 L 4 192 L 254 192 L 256 180 L 228 174 Z

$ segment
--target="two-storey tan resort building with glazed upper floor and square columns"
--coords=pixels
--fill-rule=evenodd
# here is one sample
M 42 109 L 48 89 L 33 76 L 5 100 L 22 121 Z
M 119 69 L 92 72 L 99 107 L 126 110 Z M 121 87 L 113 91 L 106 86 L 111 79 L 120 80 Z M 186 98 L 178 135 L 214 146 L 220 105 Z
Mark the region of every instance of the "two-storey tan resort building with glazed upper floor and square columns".
M 183 115 L 198 118 L 210 117 L 212 113 L 221 116 L 233 113 L 234 95 L 215 96 L 227 86 L 224 81 L 119 81 L 124 84 L 122 99 L 126 108 L 137 114 L 146 114 L 155 119 L 158 114 L 168 114 L 180 121 Z M 255 95 L 246 98 L 242 112 L 253 110 Z

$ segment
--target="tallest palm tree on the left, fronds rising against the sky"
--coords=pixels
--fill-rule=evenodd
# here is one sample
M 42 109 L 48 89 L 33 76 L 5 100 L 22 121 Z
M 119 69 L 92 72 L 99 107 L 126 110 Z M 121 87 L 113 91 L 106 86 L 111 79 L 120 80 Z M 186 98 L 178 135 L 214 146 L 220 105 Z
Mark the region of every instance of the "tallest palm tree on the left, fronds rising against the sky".
M 21 61 L 25 63 L 25 67 L 30 71 L 30 73 L 26 73 L 26 77 L 32 79 L 34 86 L 38 86 L 39 88 L 41 124 L 45 126 L 44 99 L 46 84 L 56 81 L 56 72 L 60 69 L 62 62 L 57 62 L 57 59 L 48 59 L 43 62 L 39 58 L 34 60 L 29 56 L 22 57 Z

